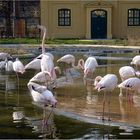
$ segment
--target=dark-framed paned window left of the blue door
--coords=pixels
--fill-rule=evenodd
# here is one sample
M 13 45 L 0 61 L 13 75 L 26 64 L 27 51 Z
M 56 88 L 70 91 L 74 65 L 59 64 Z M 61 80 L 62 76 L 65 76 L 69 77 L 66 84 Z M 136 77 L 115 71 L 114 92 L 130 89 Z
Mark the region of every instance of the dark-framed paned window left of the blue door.
M 58 10 L 58 26 L 70 26 L 71 25 L 71 11 L 70 9 Z

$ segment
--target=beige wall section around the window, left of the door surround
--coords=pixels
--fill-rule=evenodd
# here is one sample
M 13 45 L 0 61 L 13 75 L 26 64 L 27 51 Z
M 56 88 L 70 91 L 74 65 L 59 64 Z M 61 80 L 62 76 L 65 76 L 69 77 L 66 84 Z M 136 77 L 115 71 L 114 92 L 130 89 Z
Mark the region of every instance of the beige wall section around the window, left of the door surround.
M 62 4 L 63 3 L 63 4 Z M 41 24 L 48 27 L 50 38 L 85 38 L 85 12 L 79 2 L 47 2 L 41 3 Z M 71 26 L 58 26 L 58 9 L 71 9 Z M 51 18 L 48 18 L 51 17 Z

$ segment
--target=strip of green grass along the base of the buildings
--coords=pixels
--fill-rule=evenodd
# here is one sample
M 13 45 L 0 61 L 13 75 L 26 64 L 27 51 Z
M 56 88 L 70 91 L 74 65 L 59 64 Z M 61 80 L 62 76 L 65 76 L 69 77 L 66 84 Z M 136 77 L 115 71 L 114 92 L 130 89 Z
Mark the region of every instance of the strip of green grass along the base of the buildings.
M 48 39 L 46 44 L 93 44 L 93 45 L 127 45 L 127 40 L 104 39 L 104 40 L 85 40 L 85 39 Z M 2 38 L 0 44 L 41 44 L 39 38 Z

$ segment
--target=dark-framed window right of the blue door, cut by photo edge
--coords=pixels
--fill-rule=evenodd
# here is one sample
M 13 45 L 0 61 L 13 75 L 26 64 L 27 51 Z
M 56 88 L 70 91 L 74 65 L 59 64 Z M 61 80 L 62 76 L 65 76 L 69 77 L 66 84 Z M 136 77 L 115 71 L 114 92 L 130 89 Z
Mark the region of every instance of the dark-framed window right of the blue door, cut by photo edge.
M 128 26 L 140 26 L 140 9 L 128 10 Z

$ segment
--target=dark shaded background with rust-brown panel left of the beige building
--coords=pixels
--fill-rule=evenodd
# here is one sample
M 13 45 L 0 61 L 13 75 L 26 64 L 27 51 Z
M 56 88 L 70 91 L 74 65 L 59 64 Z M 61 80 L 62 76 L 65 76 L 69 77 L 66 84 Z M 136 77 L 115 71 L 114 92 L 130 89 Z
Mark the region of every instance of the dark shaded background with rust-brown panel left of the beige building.
M 40 0 L 0 0 L 0 37 L 36 37 Z

